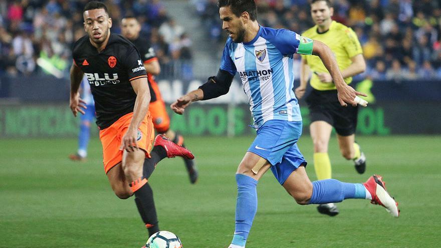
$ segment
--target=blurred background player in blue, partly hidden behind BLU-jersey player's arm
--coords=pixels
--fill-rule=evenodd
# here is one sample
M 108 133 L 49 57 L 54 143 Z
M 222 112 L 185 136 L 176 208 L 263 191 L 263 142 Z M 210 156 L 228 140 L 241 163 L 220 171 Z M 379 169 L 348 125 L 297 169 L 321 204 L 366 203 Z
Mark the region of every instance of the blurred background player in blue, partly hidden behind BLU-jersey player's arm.
M 95 116 L 95 102 L 93 101 L 92 92 L 90 91 L 89 81 L 83 78 L 80 85 L 81 98 L 86 102 L 84 115 L 80 116 L 80 132 L 78 133 L 78 150 L 77 153 L 69 155 L 73 161 L 83 161 L 87 157 L 87 146 L 90 138 L 90 125 L 93 123 Z

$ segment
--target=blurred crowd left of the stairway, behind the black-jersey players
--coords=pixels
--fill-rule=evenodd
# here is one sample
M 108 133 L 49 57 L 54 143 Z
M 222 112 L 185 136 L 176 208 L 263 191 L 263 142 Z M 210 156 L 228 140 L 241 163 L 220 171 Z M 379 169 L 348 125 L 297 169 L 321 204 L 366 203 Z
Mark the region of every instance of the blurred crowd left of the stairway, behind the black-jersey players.
M 85 35 L 82 10 L 87 2 L 0 0 L 0 74 L 45 73 L 55 67 L 66 75 L 72 63 L 72 45 Z M 103 2 L 113 19 L 112 32 L 120 33 L 119 24 L 125 16 L 138 17 L 162 71 L 179 71 L 184 77 L 191 77 L 191 41 L 184 27 L 167 14 L 164 3 L 159 0 Z M 179 70 L 173 70 L 176 66 Z

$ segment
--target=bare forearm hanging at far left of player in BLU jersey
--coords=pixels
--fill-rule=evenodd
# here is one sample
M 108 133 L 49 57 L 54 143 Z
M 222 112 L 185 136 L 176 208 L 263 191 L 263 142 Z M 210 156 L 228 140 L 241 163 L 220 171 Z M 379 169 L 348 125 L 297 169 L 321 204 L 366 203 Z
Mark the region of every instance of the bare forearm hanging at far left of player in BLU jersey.
M 86 102 L 80 98 L 80 92 L 79 92 L 83 75 L 84 75 L 83 71 L 81 71 L 81 69 L 78 66 L 76 66 L 75 63 L 73 63 L 70 70 L 71 94 L 69 99 L 69 107 L 71 108 L 71 111 L 75 117 L 77 117 L 78 112 L 84 115 L 83 109 L 87 108 Z

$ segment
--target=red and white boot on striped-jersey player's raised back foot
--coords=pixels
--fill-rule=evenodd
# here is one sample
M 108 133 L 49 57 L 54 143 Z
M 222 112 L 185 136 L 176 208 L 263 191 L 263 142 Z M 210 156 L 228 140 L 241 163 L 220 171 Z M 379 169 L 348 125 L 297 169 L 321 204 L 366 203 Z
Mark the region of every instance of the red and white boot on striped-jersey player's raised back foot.
M 385 182 L 381 180 L 381 176 L 373 175 L 367 179 L 363 185 L 372 196 L 370 201 L 372 204 L 378 204 L 386 208 L 386 210 L 394 217 L 399 216 L 398 202 L 392 198 L 386 190 Z

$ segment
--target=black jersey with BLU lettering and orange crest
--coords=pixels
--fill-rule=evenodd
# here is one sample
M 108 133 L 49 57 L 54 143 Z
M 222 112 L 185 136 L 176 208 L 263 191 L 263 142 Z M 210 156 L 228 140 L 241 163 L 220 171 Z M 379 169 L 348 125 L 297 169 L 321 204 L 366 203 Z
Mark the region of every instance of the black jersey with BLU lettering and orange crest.
M 132 43 L 120 35 L 110 34 L 106 48 L 99 53 L 89 37 L 84 36 L 74 44 L 72 55 L 75 65 L 89 80 L 100 129 L 133 112 L 136 93 L 130 81 L 147 75 Z

